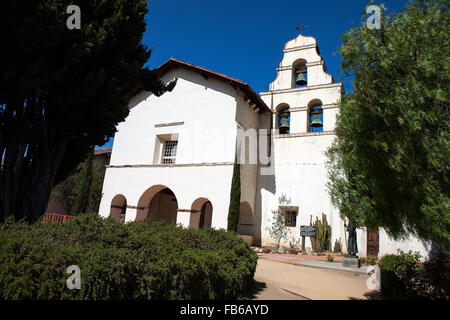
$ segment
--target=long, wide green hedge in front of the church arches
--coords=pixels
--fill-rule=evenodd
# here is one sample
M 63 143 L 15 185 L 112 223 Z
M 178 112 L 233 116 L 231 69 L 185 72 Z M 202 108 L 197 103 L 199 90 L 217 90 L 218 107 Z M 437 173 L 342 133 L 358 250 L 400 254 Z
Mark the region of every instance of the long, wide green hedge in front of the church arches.
M 96 214 L 63 225 L 0 225 L 0 299 L 237 299 L 257 255 L 225 230 L 123 224 Z M 81 290 L 66 269 L 81 269 Z

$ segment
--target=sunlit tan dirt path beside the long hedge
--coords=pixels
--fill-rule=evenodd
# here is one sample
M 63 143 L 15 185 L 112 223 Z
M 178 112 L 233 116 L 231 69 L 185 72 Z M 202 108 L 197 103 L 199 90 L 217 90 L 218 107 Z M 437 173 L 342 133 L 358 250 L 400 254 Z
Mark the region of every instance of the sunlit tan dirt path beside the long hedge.
M 379 299 L 367 288 L 368 275 L 316 269 L 258 259 L 255 280 L 262 287 L 256 300 Z

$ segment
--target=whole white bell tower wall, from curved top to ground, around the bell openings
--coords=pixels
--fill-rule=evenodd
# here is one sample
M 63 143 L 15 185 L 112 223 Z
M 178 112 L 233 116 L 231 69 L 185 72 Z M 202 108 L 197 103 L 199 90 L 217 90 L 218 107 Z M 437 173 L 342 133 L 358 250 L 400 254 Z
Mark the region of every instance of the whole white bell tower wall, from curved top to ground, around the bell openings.
M 326 184 L 328 182 L 325 151 L 331 145 L 341 98 L 342 85 L 333 83 L 326 73 L 322 58 L 318 54 L 316 40 L 312 37 L 297 38 L 286 43 L 284 56 L 277 68 L 277 77 L 269 86 L 270 90 L 261 92 L 261 98 L 273 110 L 273 123 L 276 128 L 279 106 L 288 105 L 290 111 L 290 133 L 277 135 L 273 139 L 275 176 L 262 180 L 260 197 L 262 208 L 262 243 L 273 244 L 267 228 L 272 221 L 272 211 L 279 206 L 278 198 L 285 194 L 291 199 L 291 206 L 298 207 L 297 225 L 289 228 L 290 239 L 296 238 L 300 244 L 300 226 L 309 225 L 312 216 L 327 216 L 331 225 L 332 245 L 342 237 L 342 223 L 338 210 L 331 204 Z M 299 59 L 306 61 L 308 85 L 293 86 L 293 64 Z M 324 132 L 308 131 L 308 108 L 320 101 L 323 108 Z M 287 245 L 289 241 L 286 241 Z M 306 246 L 311 247 L 309 238 Z

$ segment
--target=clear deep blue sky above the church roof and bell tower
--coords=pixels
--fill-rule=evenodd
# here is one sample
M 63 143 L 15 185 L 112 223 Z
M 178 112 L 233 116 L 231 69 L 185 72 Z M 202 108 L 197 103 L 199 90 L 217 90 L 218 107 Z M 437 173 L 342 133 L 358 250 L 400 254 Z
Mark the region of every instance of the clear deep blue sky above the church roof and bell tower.
M 374 1 L 398 12 L 408 0 Z M 147 62 L 157 68 L 170 57 L 238 78 L 257 93 L 268 90 L 284 44 L 298 35 L 314 36 L 335 81 L 341 36 L 359 25 L 366 0 L 154 0 L 148 2 L 144 44 Z M 348 87 L 350 83 L 346 83 Z M 112 141 L 104 147 L 111 147 Z

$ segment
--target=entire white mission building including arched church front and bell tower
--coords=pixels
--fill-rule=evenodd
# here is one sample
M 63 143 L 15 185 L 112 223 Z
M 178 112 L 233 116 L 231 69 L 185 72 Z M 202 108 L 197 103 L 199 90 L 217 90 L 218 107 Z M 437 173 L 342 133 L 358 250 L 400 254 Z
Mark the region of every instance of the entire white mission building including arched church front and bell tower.
M 300 226 L 324 213 L 331 245 L 341 239 L 345 250 L 325 167 L 343 87 L 327 73 L 315 38 L 299 35 L 283 52 L 275 81 L 260 96 L 243 81 L 173 58 L 159 67 L 164 82 L 177 84 L 161 97 L 143 91 L 130 101 L 114 138 L 100 215 L 226 228 L 240 150 L 239 234 L 254 245 L 274 244 L 267 229 L 280 209 L 290 240 L 300 245 Z M 282 195 L 290 203 L 280 207 Z M 393 241 L 383 230 L 357 235 L 360 256 L 402 249 L 427 257 L 430 250 L 414 237 Z

